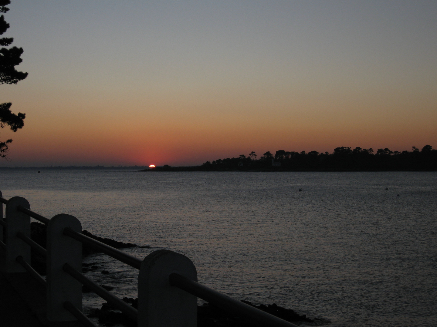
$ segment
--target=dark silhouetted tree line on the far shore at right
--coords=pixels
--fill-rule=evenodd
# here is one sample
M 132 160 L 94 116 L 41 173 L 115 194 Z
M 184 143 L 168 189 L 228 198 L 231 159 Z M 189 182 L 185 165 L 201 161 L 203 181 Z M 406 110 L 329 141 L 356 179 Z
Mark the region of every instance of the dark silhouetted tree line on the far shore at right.
M 264 170 L 264 171 L 380 171 L 380 170 L 437 170 L 437 150 L 413 146 L 412 151 L 392 151 L 388 148 L 362 149 L 340 146 L 333 153 L 306 153 L 277 150 L 267 151 L 257 159 L 252 151 L 247 157 L 217 159 L 198 167 L 205 171 Z

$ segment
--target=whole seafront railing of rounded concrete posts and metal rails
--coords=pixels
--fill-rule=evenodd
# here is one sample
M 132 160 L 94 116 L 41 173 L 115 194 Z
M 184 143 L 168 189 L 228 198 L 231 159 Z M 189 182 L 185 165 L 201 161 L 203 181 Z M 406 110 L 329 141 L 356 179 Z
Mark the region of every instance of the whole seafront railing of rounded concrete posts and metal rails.
M 296 327 L 198 283 L 196 267 L 185 255 L 162 249 L 141 260 L 83 235 L 80 221 L 71 215 L 45 218 L 31 211 L 26 199 L 6 200 L 1 192 L 0 202 L 0 247 L 5 252 L 5 272 L 27 271 L 47 288 L 49 321 L 79 320 L 85 326 L 94 327 L 81 311 L 82 285 L 85 285 L 137 321 L 139 327 L 195 327 L 197 298 L 245 317 L 256 326 Z M 6 204 L 4 221 L 3 204 Z M 30 238 L 31 217 L 47 225 L 47 249 Z M 82 244 L 139 269 L 138 310 L 82 274 Z M 31 249 L 47 258 L 47 280 L 30 266 Z

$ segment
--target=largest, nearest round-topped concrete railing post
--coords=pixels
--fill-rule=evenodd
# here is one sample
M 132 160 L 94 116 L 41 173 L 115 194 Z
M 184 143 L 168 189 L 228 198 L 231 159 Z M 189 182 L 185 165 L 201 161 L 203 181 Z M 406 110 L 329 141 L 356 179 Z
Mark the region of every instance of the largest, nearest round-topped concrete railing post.
M 185 255 L 158 250 L 143 260 L 138 276 L 138 327 L 197 326 L 197 297 L 171 286 L 172 272 L 197 282 L 196 267 Z

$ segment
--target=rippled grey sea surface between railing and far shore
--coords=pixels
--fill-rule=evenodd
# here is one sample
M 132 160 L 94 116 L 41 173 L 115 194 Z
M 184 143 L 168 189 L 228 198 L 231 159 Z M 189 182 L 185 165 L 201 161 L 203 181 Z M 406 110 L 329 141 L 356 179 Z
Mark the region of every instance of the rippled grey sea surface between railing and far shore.
M 436 172 L 1 170 L 4 198 L 95 235 L 187 255 L 199 282 L 327 326 L 437 325 Z M 385 188 L 388 187 L 388 190 Z M 302 191 L 299 191 L 299 188 Z M 399 194 L 399 196 L 397 196 Z M 136 297 L 138 271 L 88 272 Z M 104 300 L 84 294 L 84 309 Z

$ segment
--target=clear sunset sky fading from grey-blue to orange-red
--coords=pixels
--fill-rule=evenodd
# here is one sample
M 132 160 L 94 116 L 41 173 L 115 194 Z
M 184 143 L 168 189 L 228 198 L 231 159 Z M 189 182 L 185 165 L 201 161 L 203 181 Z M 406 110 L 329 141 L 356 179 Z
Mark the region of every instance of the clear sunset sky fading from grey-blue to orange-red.
M 437 148 L 437 1 L 11 0 L 0 167 Z

